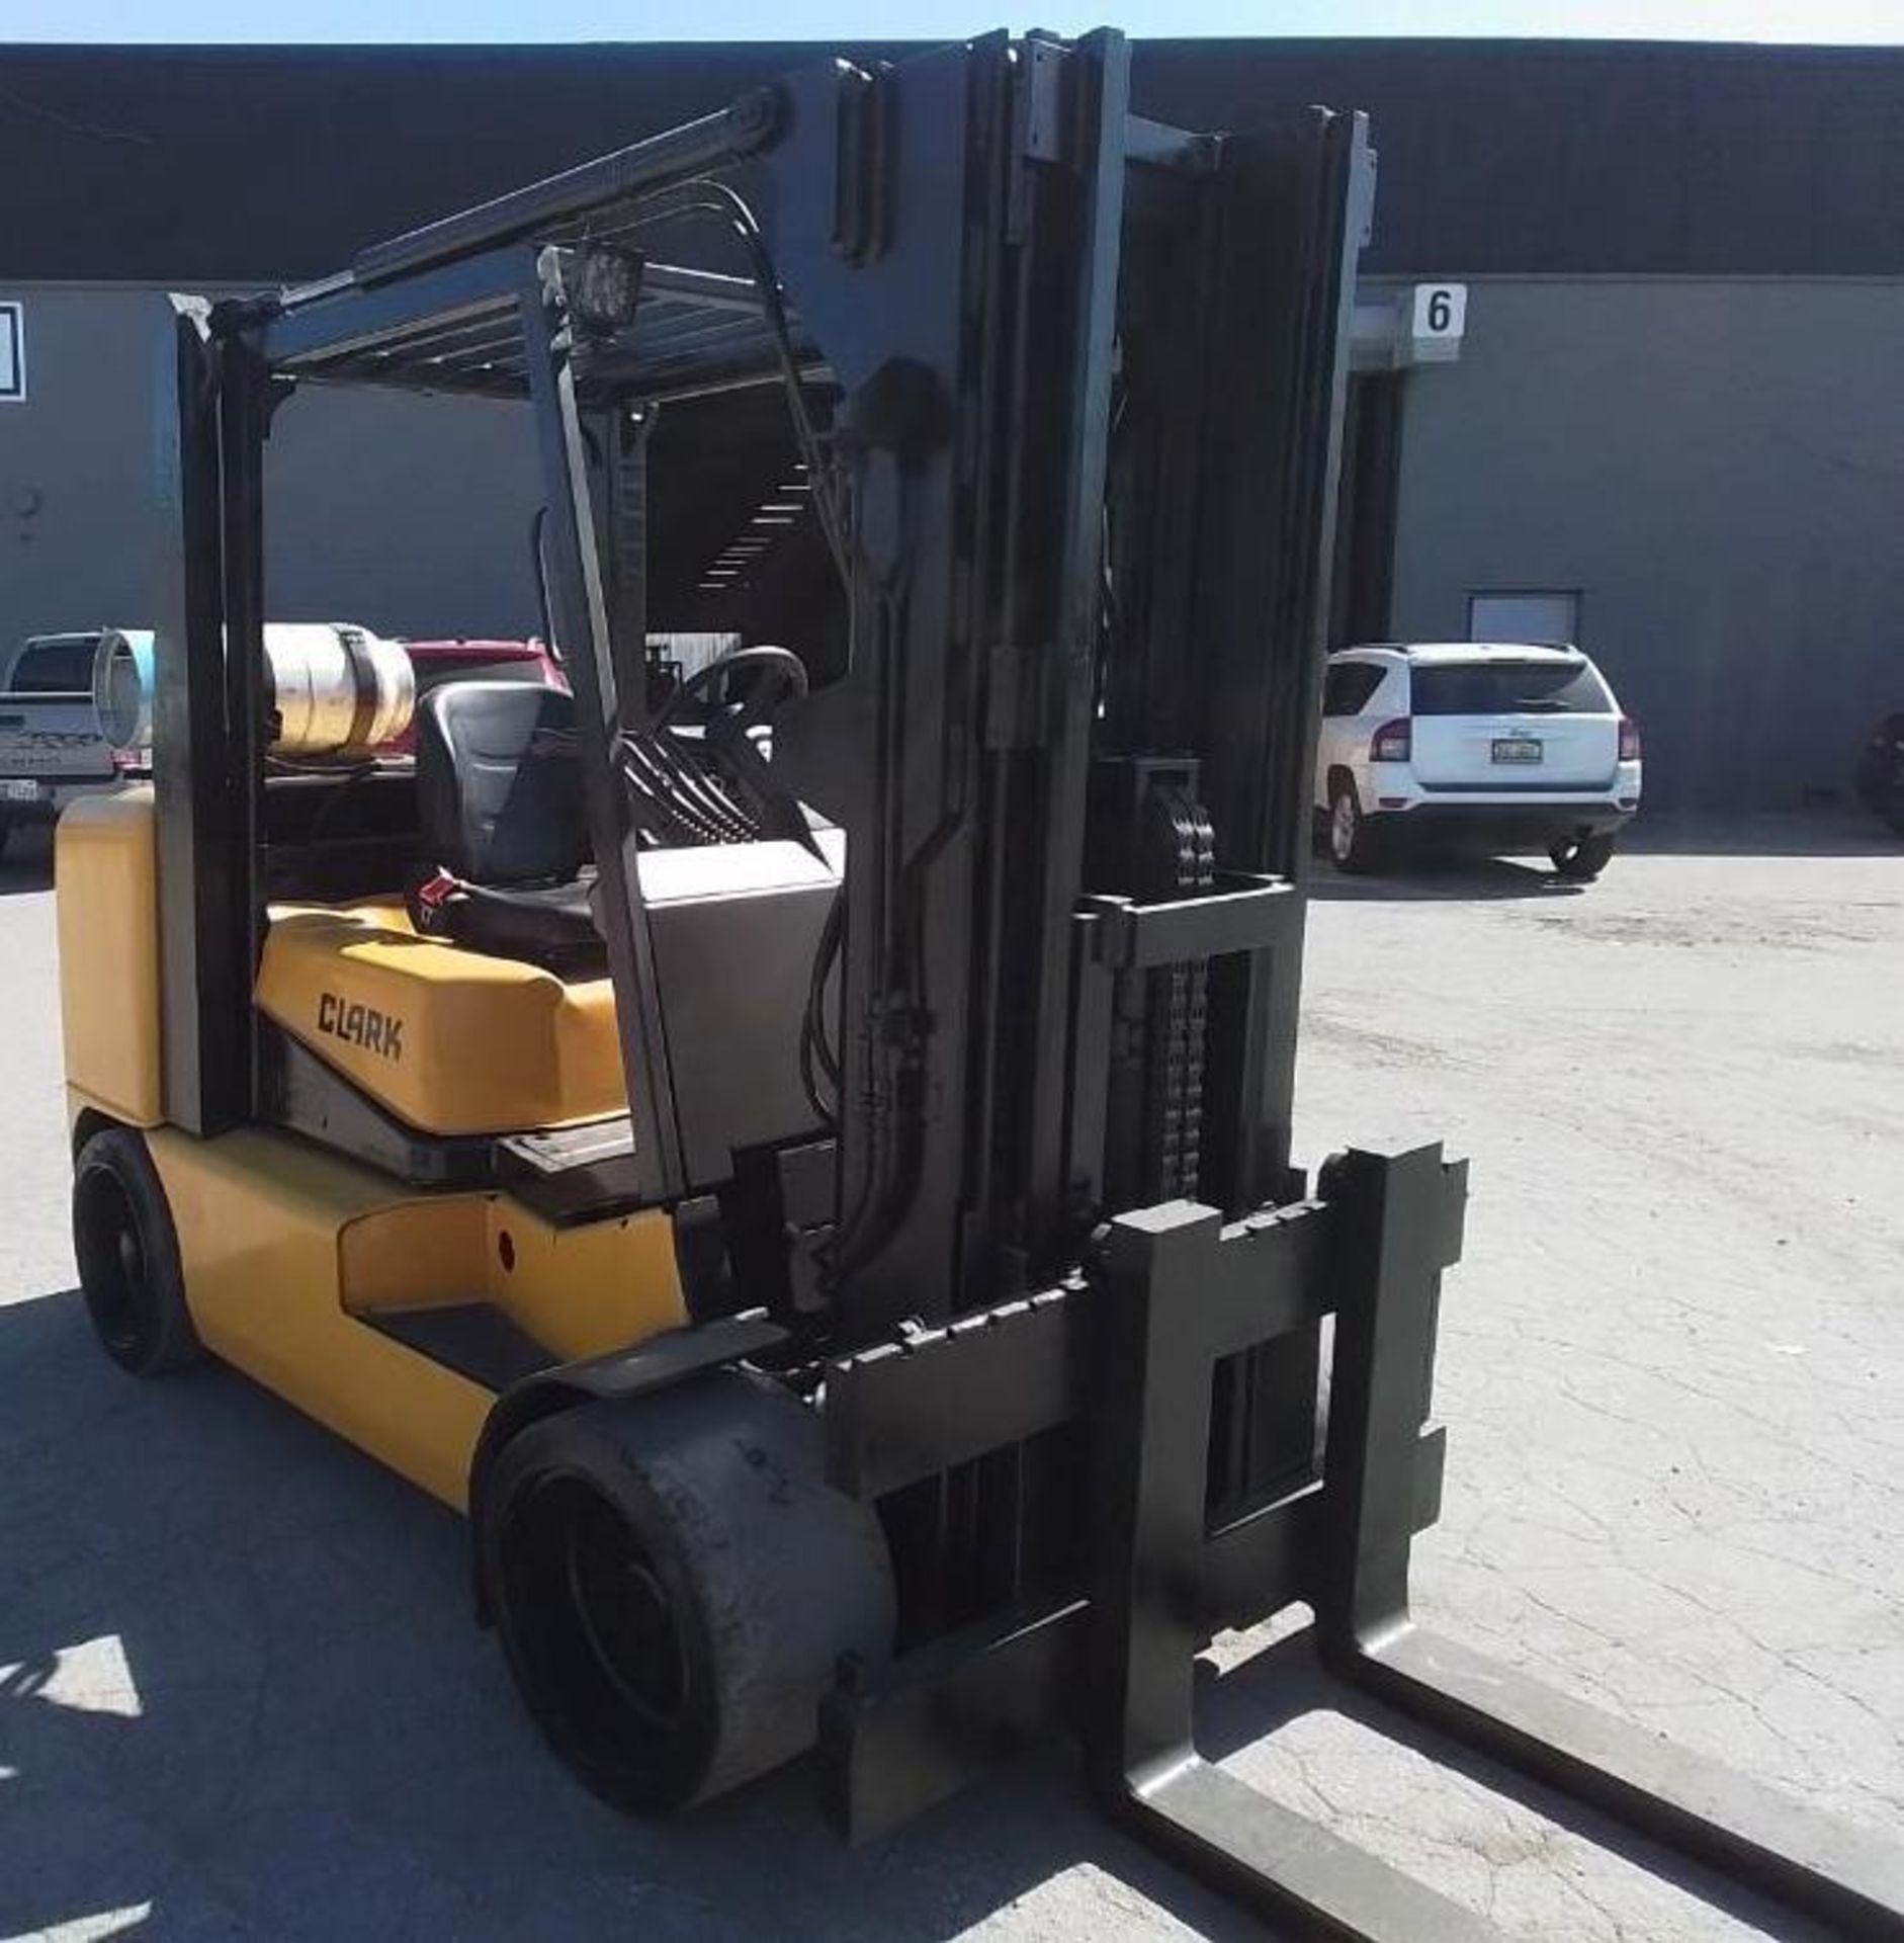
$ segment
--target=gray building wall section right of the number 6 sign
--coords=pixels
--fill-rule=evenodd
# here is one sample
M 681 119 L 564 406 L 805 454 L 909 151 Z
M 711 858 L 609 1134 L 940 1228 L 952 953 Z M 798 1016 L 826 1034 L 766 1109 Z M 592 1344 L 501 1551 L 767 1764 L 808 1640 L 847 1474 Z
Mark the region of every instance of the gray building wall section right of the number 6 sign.
M 1477 282 L 1405 383 L 1391 633 L 1578 589 L 1646 802 L 1850 789 L 1904 703 L 1904 282 Z

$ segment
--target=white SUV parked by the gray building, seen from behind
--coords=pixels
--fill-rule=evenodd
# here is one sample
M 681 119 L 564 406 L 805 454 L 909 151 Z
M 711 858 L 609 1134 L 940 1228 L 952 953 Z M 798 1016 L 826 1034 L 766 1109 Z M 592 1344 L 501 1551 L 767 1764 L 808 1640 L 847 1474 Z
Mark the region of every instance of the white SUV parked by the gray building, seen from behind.
M 1329 657 L 1315 812 L 1339 870 L 1409 839 L 1543 849 L 1591 878 L 1640 808 L 1640 731 L 1576 647 L 1422 641 Z

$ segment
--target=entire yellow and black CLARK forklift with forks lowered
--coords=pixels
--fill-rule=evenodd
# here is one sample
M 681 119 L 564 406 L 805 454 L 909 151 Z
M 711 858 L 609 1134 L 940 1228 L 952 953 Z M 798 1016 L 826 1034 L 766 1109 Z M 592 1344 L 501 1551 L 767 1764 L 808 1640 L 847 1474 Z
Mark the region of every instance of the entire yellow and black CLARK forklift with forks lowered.
M 812 1755 L 868 1838 L 1071 1735 L 1273 1922 L 1490 1933 L 1197 1756 L 1195 1655 L 1300 1601 L 1344 1679 L 1900 1935 L 1894 1848 L 1409 1615 L 1465 1176 L 1290 1166 L 1372 185 L 1356 115 L 1162 126 L 1117 35 L 999 35 L 175 299 L 155 785 L 58 835 L 85 1298 L 466 1512 L 628 1809 Z M 439 686 L 414 769 L 377 643 L 288 707 L 264 628 L 266 435 L 334 385 L 536 429 L 573 694 Z M 818 573 L 668 692 L 649 460 L 727 462 L 740 392 L 797 486 L 697 585 Z

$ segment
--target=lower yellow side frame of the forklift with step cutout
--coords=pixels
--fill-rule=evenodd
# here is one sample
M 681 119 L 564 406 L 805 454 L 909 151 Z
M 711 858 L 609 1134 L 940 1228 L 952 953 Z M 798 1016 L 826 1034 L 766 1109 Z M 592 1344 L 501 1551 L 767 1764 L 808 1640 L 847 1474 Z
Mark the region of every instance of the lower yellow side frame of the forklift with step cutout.
M 150 1144 L 206 1346 L 455 1510 L 492 1391 L 363 1313 L 493 1294 L 558 1356 L 637 1343 L 686 1313 L 659 1210 L 558 1234 L 507 1197 L 406 1195 L 262 1129 L 159 1129 Z

